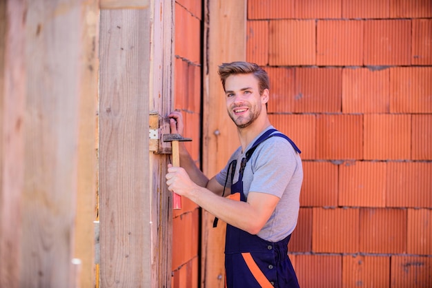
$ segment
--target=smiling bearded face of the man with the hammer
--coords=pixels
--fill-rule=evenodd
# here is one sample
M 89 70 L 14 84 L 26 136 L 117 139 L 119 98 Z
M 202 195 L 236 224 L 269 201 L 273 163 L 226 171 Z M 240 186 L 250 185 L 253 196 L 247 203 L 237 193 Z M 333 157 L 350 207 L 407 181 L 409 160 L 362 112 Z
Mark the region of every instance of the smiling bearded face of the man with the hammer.
M 251 125 L 262 111 L 266 97 L 259 95 L 258 81 L 253 74 L 235 74 L 225 81 L 226 109 L 239 128 Z

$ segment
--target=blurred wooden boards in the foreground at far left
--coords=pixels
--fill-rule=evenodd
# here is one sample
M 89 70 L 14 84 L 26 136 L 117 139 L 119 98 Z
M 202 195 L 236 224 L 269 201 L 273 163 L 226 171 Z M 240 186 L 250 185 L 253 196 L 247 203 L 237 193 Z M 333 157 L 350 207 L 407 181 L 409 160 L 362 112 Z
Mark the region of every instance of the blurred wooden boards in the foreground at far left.
M 92 284 L 97 9 L 1 1 L 0 287 Z

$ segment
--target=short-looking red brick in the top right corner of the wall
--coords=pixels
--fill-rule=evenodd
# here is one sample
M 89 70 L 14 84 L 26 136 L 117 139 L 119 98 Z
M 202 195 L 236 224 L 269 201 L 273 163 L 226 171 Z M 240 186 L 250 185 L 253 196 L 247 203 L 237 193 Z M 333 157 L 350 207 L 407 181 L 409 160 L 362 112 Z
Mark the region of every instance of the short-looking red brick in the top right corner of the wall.
M 430 0 L 390 0 L 391 18 L 426 18 L 432 17 Z

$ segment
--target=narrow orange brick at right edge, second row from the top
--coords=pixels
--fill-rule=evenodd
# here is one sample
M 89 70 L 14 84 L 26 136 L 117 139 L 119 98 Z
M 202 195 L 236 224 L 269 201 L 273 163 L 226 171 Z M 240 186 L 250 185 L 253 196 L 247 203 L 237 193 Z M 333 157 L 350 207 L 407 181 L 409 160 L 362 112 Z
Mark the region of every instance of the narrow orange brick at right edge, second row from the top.
M 413 65 L 432 64 L 432 19 L 413 19 Z

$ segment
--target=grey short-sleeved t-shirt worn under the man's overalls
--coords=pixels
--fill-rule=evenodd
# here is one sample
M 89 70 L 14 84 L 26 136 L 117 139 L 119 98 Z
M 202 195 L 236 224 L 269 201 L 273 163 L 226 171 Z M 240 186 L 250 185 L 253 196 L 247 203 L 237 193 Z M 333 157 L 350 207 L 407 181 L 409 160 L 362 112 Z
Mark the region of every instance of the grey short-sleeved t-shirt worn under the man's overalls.
M 271 128 L 273 126 L 268 127 L 268 129 Z M 262 134 L 259 134 L 257 138 Z M 251 144 L 246 147 L 243 153 L 242 147 L 239 147 L 231 155 L 228 164 L 237 159 L 234 183 L 239 178 L 242 158 L 246 156 L 246 152 L 252 147 L 257 138 L 251 141 Z M 216 180 L 221 185 L 225 184 L 228 164 L 216 175 Z M 285 138 L 273 136 L 258 145 L 244 169 L 244 194 L 247 199 L 249 192 L 267 193 L 279 197 L 280 200 L 270 219 L 258 232 L 257 236 L 264 240 L 277 242 L 293 232 L 295 225 L 297 225 L 297 216 L 300 209 L 302 181 L 302 160 L 291 143 Z M 231 177 L 229 175 L 226 187 L 230 186 Z

